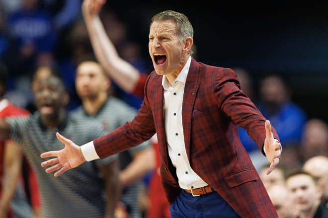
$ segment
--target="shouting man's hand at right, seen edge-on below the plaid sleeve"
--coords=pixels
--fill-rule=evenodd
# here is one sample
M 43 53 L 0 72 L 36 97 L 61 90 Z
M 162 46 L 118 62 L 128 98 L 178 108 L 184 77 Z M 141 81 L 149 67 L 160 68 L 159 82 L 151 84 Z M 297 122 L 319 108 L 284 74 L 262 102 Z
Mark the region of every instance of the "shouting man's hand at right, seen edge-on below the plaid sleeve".
M 264 140 L 264 149 L 265 155 L 268 161 L 271 163 L 266 174 L 268 175 L 280 162 L 282 147 L 280 142 L 273 138 L 273 134 L 271 131 L 271 124 L 269 120 L 265 121 L 265 131 L 266 136 Z

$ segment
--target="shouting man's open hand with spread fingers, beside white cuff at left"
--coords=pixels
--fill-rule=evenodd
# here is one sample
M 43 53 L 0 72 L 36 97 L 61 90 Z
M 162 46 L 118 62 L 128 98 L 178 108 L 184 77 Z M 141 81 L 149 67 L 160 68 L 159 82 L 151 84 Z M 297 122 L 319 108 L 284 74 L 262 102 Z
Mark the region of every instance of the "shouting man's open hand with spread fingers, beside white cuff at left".
M 42 153 L 41 158 L 54 158 L 42 162 L 41 166 L 50 166 L 46 168 L 46 172 L 53 172 L 57 170 L 54 176 L 59 176 L 67 170 L 75 168 L 81 163 L 84 163 L 85 158 L 82 154 L 80 146 L 76 145 L 74 142 L 65 138 L 58 132 L 56 133 L 56 136 L 58 140 L 65 145 L 65 147 L 59 151 L 49 151 Z

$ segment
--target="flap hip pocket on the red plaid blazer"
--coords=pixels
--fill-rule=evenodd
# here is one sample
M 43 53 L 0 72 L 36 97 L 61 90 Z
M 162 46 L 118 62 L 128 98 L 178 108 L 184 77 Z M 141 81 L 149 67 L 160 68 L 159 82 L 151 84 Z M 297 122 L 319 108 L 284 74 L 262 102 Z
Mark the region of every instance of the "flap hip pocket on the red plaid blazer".
M 245 169 L 224 177 L 226 184 L 232 188 L 245 182 L 257 180 L 259 177 L 255 169 Z

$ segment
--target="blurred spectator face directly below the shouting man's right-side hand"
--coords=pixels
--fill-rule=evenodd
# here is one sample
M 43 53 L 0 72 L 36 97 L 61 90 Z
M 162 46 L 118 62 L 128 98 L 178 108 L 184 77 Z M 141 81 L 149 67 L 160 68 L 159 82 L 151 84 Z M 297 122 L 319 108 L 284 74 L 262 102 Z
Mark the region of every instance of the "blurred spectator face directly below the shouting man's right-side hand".
M 267 190 L 273 185 L 284 185 L 284 174 L 280 169 L 275 168 L 269 175 L 266 174 L 267 170 L 268 168 L 264 168 L 259 174 Z

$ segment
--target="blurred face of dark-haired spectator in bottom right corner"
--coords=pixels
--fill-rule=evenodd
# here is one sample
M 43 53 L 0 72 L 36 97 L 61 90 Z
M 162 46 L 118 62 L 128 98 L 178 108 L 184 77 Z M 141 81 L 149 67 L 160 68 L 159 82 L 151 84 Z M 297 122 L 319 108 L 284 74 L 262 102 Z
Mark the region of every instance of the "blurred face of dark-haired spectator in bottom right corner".
M 289 177 L 286 186 L 295 206 L 301 212 L 311 211 L 320 194 L 313 178 L 306 174 Z

